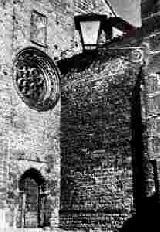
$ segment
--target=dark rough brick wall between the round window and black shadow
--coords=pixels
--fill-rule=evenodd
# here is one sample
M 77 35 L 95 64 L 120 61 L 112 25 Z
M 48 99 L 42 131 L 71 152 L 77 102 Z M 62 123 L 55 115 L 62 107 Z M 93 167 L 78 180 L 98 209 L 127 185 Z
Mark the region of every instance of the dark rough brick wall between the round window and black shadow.
M 143 62 L 136 52 L 111 49 L 59 64 L 63 227 L 94 227 L 101 218 L 116 231 L 120 215 L 131 214 L 132 94 Z

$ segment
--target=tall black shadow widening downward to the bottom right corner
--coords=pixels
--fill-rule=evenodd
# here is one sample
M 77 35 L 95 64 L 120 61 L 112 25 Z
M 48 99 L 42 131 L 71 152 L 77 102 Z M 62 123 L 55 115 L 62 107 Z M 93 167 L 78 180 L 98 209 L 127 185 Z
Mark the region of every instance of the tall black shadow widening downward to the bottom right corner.
M 133 92 L 132 102 L 133 192 L 136 215 L 126 220 L 119 232 L 159 231 L 160 199 L 158 170 L 156 160 L 148 160 L 148 157 L 145 156 L 146 148 L 143 143 L 143 133 L 145 131 L 142 124 L 139 88 L 141 78 L 142 73 L 140 72 Z M 152 171 L 150 171 L 149 164 L 152 164 Z M 151 180 L 151 178 L 154 183 L 155 192 L 147 197 L 147 181 L 148 179 Z

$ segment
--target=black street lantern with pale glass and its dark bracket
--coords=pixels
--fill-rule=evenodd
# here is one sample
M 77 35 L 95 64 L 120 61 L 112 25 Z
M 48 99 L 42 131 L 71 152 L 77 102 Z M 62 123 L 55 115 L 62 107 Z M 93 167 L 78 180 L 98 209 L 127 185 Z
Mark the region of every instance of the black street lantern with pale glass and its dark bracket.
M 82 14 L 74 17 L 75 29 L 79 31 L 82 47 L 85 51 L 95 50 L 100 44 L 99 38 L 105 32 L 105 42 L 113 39 L 113 28 L 122 35 L 131 34 L 135 28 L 120 17 L 107 17 L 100 14 Z

